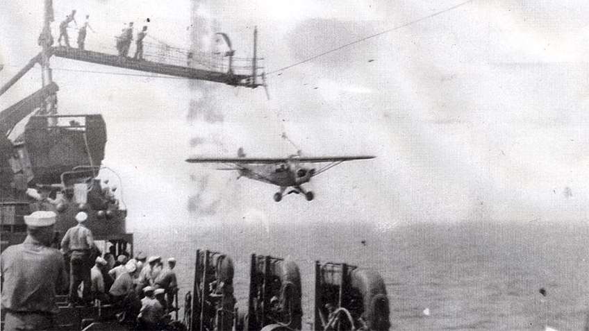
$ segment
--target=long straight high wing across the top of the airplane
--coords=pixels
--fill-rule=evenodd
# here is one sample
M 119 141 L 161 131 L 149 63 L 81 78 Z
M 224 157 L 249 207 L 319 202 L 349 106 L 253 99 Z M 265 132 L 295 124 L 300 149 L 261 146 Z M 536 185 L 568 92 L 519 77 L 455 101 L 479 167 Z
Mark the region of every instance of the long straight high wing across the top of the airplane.
M 352 156 L 318 156 L 318 157 L 293 157 L 293 158 L 201 158 L 194 157 L 186 159 L 190 163 L 248 163 L 248 164 L 276 164 L 296 160 L 307 163 L 327 163 L 327 162 L 346 162 L 352 160 L 367 160 L 375 158 L 372 155 L 352 155 Z

